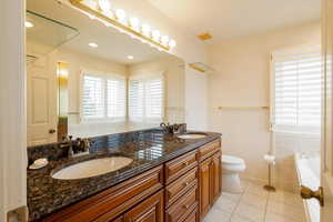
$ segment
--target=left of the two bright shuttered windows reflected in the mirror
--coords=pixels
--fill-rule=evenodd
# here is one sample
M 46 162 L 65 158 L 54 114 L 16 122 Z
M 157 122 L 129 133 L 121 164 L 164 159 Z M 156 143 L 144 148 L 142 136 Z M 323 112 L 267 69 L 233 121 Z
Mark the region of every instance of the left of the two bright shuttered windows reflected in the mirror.
M 110 74 L 84 73 L 82 78 L 83 121 L 125 118 L 125 79 Z

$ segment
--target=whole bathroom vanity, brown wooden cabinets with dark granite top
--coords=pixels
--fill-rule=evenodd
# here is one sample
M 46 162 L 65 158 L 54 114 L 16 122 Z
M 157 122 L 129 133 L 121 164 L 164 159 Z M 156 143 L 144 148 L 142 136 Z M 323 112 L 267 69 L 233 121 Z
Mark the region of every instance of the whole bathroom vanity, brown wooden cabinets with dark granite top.
M 221 134 L 183 140 L 157 131 L 137 133 L 144 133 L 144 140 L 99 148 L 82 158 L 53 157 L 44 169 L 28 170 L 30 220 L 201 221 L 221 194 Z M 38 155 L 46 147 L 30 149 L 31 155 Z M 105 157 L 127 157 L 133 162 L 92 178 L 52 178 L 65 167 Z

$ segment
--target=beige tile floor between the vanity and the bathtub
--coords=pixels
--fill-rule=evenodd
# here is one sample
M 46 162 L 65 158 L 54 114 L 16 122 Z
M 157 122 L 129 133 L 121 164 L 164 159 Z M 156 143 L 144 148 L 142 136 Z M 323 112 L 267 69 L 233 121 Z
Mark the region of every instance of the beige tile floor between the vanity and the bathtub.
M 243 182 L 244 192 L 223 192 L 204 222 L 305 222 L 300 195 L 276 191 L 269 193 L 262 185 Z

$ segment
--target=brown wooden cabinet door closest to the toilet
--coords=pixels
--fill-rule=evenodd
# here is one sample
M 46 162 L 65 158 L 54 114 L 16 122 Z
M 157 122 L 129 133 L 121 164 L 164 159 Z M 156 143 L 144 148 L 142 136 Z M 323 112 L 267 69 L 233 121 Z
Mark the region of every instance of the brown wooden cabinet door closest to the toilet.
M 211 204 L 214 204 L 221 194 L 221 152 L 218 152 L 212 157 L 210 173 Z

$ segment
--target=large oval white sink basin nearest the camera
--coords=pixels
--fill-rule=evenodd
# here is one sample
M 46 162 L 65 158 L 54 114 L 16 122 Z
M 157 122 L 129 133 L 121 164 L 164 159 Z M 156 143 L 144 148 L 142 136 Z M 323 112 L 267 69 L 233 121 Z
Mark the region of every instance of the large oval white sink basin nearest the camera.
M 112 157 L 80 162 L 67 167 L 52 175 L 59 180 L 92 178 L 122 169 L 133 162 L 130 158 Z

